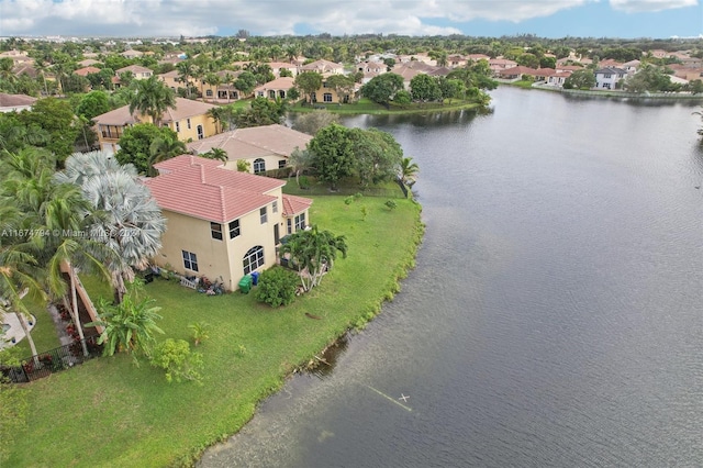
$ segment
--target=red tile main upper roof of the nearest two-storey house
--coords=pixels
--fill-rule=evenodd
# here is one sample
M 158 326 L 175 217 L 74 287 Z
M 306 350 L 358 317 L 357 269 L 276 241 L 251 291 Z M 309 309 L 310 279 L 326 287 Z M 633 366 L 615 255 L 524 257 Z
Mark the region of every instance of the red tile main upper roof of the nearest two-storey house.
M 284 181 L 222 167 L 221 161 L 181 155 L 155 165 L 167 174 L 144 181 L 163 210 L 227 223 L 277 200 Z

